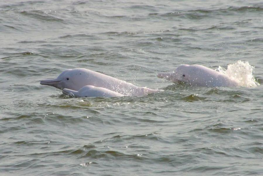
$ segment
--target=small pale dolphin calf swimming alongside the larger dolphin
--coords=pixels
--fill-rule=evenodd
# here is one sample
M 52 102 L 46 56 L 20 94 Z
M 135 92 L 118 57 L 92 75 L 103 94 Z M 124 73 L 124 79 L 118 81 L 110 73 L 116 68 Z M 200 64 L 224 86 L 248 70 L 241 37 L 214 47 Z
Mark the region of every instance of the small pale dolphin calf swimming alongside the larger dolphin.
M 73 94 L 75 97 L 123 97 L 123 94 L 114 92 L 112 90 L 87 85 L 79 89 L 78 91 L 71 89 L 63 89 L 62 93 L 65 95 Z

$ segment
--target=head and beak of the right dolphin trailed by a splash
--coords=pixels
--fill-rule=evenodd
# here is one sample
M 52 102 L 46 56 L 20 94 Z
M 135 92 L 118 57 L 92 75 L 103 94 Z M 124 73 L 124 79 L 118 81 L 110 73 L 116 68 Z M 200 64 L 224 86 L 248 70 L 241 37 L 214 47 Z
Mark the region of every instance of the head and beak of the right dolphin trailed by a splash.
M 190 77 L 191 68 L 189 65 L 184 64 L 176 68 L 176 70 L 172 73 L 159 73 L 157 77 L 164 78 L 172 82 L 188 82 Z

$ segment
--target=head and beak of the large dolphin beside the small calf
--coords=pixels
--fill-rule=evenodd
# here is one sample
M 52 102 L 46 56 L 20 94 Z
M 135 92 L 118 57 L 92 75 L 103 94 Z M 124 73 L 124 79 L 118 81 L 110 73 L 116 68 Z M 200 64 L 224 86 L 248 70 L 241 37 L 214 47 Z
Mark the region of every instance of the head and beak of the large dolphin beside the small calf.
M 68 69 L 63 71 L 57 78 L 41 80 L 40 84 L 58 89 L 79 90 L 85 84 L 84 79 L 87 79 L 87 75 L 81 69 Z

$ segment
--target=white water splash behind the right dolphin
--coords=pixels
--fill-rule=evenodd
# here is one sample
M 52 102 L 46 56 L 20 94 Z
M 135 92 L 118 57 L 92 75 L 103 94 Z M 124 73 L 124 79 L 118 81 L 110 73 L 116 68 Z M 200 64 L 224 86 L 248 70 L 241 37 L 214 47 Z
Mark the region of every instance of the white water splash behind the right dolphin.
M 260 84 L 256 82 L 253 75 L 254 68 L 255 67 L 249 65 L 248 62 L 242 62 L 241 60 L 238 60 L 234 64 L 229 64 L 227 69 L 219 66 L 216 71 L 223 73 L 233 80 L 236 80 L 240 86 L 256 87 Z

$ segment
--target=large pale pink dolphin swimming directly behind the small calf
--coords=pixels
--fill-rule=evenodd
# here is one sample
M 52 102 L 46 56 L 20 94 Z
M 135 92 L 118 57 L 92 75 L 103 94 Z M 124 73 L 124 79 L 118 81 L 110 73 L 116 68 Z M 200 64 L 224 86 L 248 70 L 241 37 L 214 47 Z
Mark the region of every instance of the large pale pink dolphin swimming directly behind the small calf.
M 126 81 L 94 72 L 92 70 L 87 70 L 85 68 L 65 70 L 57 78 L 41 80 L 40 84 L 53 86 L 58 89 L 66 88 L 75 91 L 78 91 L 86 85 L 91 85 L 106 88 L 126 96 L 144 96 L 149 93 L 163 91 L 138 87 Z

